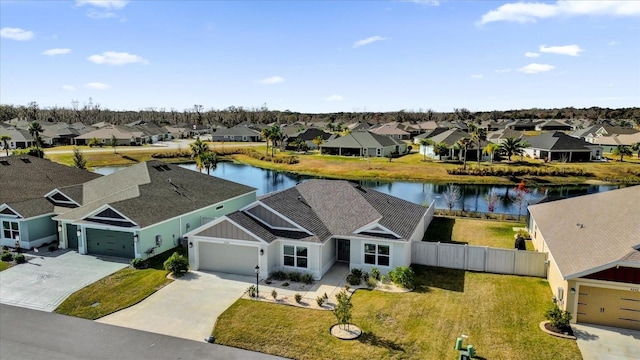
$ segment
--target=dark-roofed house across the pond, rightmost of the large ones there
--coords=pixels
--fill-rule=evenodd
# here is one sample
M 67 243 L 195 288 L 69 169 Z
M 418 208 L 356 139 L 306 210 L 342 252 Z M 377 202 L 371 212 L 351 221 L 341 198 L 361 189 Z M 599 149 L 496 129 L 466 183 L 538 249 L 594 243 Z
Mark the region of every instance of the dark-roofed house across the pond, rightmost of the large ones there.
M 523 138 L 529 144 L 525 155 L 546 161 L 591 161 L 600 159 L 602 148 L 582 139 L 555 131 Z

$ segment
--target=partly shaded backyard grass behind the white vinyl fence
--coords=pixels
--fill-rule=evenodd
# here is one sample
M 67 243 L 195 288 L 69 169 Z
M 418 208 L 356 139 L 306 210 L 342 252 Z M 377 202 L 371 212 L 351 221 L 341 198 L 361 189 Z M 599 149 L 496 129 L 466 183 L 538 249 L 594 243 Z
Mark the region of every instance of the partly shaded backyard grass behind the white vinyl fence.
M 513 249 L 516 234 L 514 227 L 525 227 L 525 224 L 436 216 L 423 240 Z M 527 241 L 527 250 L 535 250 L 531 241 Z

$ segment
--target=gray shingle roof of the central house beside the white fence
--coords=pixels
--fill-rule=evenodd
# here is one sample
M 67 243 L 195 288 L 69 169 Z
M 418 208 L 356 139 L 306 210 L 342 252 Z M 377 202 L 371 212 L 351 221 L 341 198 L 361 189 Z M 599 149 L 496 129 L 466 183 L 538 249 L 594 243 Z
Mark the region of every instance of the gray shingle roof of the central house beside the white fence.
M 375 223 L 402 237 L 392 241 L 408 241 L 426 211 L 420 205 L 344 180 L 308 180 L 258 201 L 313 234 L 273 230 L 242 211 L 229 215 L 267 242 L 276 238 L 324 242 L 332 236 L 354 235 L 390 240 L 372 233 L 356 234 L 356 230 Z

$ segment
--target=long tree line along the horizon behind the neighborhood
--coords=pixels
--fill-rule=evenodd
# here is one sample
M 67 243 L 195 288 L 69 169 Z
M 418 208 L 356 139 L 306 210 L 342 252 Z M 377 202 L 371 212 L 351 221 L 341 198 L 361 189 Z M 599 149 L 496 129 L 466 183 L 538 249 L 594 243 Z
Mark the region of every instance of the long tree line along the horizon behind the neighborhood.
M 231 127 L 243 122 L 254 124 L 292 124 L 292 123 L 327 123 L 351 124 L 357 121 L 372 124 L 423 121 L 464 121 L 476 122 L 497 120 L 551 120 L 551 119 L 589 119 L 594 122 L 603 120 L 624 120 L 629 124 L 640 126 L 640 108 L 600 108 L 590 107 L 577 109 L 565 107 L 561 109 L 521 109 L 506 111 L 470 111 L 465 108 L 455 108 L 452 112 L 436 112 L 431 109 L 399 110 L 391 112 L 335 112 L 326 114 L 300 113 L 289 110 L 269 110 L 266 104 L 245 108 L 230 106 L 226 109 L 208 109 L 203 105 L 177 110 L 175 108 L 147 107 L 138 111 L 109 110 L 94 103 L 91 98 L 80 106 L 78 101 L 72 102 L 71 107 L 40 107 L 37 102 L 27 105 L 0 105 L 0 122 L 14 118 L 40 122 L 82 122 L 95 124 L 108 122 L 122 125 L 136 121 L 152 122 L 159 125 L 197 124 L 222 125 Z

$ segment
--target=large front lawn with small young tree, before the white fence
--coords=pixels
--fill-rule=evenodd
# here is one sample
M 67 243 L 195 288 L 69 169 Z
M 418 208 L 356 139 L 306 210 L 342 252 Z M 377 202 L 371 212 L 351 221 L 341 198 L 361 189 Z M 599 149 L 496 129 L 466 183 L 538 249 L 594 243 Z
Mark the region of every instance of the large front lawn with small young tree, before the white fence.
M 329 334 L 329 311 L 238 300 L 213 335 L 224 345 L 294 359 L 455 359 L 455 340 L 469 336 L 484 359 L 580 359 L 574 341 L 543 333 L 550 305 L 546 280 L 414 266 L 410 293 L 358 290 L 353 323 L 364 335 Z

